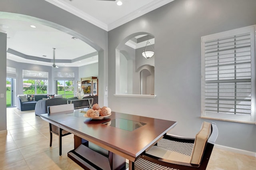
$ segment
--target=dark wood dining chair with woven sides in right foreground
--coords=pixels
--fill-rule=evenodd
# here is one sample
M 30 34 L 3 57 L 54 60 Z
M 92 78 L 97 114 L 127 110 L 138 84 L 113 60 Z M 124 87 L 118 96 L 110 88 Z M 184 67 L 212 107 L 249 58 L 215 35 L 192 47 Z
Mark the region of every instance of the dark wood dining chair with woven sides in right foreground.
M 203 122 L 195 138 L 165 134 L 133 163 L 134 170 L 205 170 L 218 136 L 215 123 Z

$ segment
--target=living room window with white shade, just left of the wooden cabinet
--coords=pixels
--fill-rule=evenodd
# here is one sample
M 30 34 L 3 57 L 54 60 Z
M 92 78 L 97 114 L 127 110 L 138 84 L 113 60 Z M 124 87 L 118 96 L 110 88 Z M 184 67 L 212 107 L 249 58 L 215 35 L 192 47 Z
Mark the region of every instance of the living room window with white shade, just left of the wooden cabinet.
M 62 97 L 74 97 L 74 73 L 73 72 L 55 72 L 55 94 Z

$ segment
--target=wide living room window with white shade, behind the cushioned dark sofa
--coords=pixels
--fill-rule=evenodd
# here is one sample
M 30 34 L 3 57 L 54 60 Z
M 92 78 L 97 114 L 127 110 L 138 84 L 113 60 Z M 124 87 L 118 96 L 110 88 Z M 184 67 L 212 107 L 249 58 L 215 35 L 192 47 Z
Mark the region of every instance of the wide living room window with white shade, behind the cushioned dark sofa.
M 23 94 L 47 94 L 48 72 L 23 70 Z

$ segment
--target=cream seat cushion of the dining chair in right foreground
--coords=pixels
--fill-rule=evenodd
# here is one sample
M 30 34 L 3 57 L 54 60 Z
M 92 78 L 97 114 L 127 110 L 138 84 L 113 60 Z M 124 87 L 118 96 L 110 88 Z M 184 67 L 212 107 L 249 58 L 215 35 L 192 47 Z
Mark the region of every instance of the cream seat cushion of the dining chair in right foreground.
M 148 150 L 148 152 L 146 153 L 159 158 L 190 163 L 190 156 L 180 154 L 178 152 L 174 152 L 160 146 L 152 146 L 150 150 Z

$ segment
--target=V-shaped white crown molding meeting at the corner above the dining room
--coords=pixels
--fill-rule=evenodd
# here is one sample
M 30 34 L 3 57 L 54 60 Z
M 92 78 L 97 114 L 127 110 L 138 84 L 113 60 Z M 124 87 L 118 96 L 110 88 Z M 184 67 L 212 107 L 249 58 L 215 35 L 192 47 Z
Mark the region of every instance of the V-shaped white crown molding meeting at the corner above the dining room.
M 113 30 L 114 28 L 117 28 L 117 27 L 125 24 L 126 22 L 134 20 L 135 18 L 138 18 L 138 17 L 140 17 L 152 10 L 155 10 L 156 8 L 159 8 L 165 4 L 168 4 L 174 0 L 155 0 L 155 1 L 139 8 L 138 10 L 135 10 L 122 18 L 119 18 L 118 20 L 116 20 L 110 24 L 101 22 L 100 20 L 94 18 L 93 16 L 86 14 L 85 12 L 83 12 L 82 10 L 79 10 L 78 8 L 75 8 L 74 6 L 70 6 L 70 4 L 68 4 L 67 2 L 64 2 L 62 0 L 45 0 L 45 1 L 51 3 L 55 6 L 58 6 L 59 8 L 76 15 L 76 16 L 82 18 L 83 20 L 86 20 L 87 22 L 90 22 L 91 24 L 94 24 L 95 26 L 102 28 L 103 30 L 110 31 L 110 30 Z

